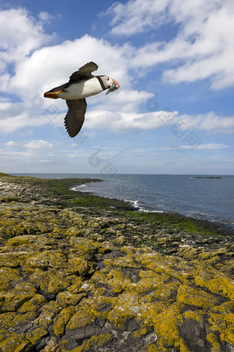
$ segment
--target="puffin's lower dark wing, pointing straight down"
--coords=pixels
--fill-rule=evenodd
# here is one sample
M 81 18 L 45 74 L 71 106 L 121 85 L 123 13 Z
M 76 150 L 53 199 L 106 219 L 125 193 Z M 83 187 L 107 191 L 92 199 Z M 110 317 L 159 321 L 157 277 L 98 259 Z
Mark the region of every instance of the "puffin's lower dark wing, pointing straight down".
M 85 120 L 87 103 L 85 99 L 66 100 L 68 112 L 65 116 L 65 127 L 70 137 L 76 136 Z

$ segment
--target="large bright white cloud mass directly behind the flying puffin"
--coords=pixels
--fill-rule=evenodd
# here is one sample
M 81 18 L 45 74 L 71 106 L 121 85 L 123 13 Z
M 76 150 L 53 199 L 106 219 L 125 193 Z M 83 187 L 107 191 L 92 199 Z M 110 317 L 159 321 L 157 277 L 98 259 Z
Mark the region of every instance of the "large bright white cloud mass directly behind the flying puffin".
M 131 90 L 132 78 L 128 72 L 127 59 L 129 55 L 131 56 L 129 53 L 131 47 L 127 44 L 121 47 L 111 45 L 107 41 L 88 35 L 75 41 L 65 41 L 60 45 L 34 50 L 31 56 L 25 56 L 16 65 L 14 76 L 6 74 L 0 78 L 0 89 L 18 94 L 23 101 L 22 104 L 0 103 L 0 111 L 6 110 L 5 121 L 0 121 L 1 132 L 16 131 L 27 124 L 34 126 L 53 123 L 55 120 L 57 124 L 58 118 L 63 121 L 67 110 L 65 102 L 44 99 L 43 92 L 65 83 L 72 72 L 78 70 L 84 63 L 93 61 L 94 58 L 99 65 L 95 74 L 108 74 L 113 77 L 120 82 L 121 90 L 108 96 L 103 93 L 91 97 L 87 101 L 88 110 L 92 105 L 96 106 L 96 110 L 105 110 L 105 115 L 109 114 L 109 110 L 114 110 L 116 114 L 138 110 L 138 105 L 145 103 L 153 94 L 143 90 L 140 92 Z M 52 116 L 51 110 L 54 110 L 56 118 Z M 36 118 L 40 114 L 43 117 Z

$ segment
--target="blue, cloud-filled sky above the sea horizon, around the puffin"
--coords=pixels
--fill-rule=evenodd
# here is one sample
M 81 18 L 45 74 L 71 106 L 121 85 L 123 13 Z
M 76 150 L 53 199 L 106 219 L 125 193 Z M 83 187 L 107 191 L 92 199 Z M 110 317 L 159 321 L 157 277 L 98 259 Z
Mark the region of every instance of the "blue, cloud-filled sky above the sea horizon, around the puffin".
M 234 175 L 233 0 L 0 2 L 0 172 Z M 94 61 L 70 138 L 43 93 Z

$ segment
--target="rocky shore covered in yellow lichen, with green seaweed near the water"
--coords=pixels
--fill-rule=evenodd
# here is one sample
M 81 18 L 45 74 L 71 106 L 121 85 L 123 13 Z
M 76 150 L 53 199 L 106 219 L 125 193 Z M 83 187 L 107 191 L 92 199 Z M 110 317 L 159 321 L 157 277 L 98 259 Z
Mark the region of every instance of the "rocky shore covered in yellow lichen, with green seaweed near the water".
M 84 182 L 0 174 L 0 352 L 233 352 L 233 232 Z

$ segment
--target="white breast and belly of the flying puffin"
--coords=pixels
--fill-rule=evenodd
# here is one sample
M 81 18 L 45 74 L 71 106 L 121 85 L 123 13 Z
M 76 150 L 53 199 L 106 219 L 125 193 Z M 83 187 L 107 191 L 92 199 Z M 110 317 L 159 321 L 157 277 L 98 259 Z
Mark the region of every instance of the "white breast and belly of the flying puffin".
M 92 79 L 69 85 L 58 94 L 58 97 L 66 100 L 83 99 L 100 92 L 103 92 L 103 88 L 100 86 L 98 79 L 92 77 Z

